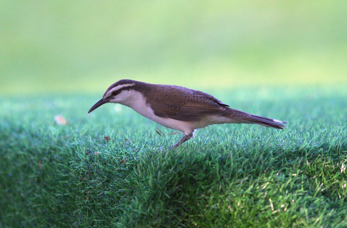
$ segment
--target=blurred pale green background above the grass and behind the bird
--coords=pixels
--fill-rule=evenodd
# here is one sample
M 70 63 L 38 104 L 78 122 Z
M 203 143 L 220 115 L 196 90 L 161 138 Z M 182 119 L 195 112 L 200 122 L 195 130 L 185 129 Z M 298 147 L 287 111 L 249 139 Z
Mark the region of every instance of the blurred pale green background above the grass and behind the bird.
M 347 1 L 0 5 L 0 94 L 347 84 Z

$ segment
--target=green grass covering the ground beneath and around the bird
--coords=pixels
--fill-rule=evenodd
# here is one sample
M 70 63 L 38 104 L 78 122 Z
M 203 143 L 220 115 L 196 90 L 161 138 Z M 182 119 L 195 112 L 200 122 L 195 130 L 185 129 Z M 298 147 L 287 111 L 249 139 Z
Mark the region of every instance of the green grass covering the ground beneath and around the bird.
M 209 126 L 171 150 L 182 135 L 129 108 L 87 114 L 98 96 L 2 97 L 0 226 L 347 226 L 346 88 L 208 92 L 288 127 Z

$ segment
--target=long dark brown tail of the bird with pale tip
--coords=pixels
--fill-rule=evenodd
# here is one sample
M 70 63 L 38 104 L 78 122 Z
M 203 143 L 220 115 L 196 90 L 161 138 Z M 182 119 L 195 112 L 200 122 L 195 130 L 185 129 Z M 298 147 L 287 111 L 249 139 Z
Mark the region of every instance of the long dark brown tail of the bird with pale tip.
M 268 117 L 262 117 L 262 116 L 256 116 L 249 113 L 245 113 L 236 109 L 228 108 L 228 113 L 225 114 L 229 118 L 238 121 L 239 123 L 253 123 L 253 124 L 259 124 L 265 127 L 271 127 L 271 128 L 277 128 L 277 129 L 283 129 L 286 126 L 283 125 L 287 122 L 271 119 Z

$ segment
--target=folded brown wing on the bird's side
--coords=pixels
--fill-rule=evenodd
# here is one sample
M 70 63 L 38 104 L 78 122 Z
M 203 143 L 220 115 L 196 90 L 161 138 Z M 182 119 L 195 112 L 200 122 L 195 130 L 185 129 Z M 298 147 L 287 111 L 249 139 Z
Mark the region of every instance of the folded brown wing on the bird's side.
M 150 103 L 156 104 L 151 105 L 151 108 L 157 116 L 197 121 L 201 115 L 228 113 L 228 105 L 201 91 L 180 86 L 165 86 L 162 89 L 159 89 L 155 96 L 149 96 L 152 97 Z

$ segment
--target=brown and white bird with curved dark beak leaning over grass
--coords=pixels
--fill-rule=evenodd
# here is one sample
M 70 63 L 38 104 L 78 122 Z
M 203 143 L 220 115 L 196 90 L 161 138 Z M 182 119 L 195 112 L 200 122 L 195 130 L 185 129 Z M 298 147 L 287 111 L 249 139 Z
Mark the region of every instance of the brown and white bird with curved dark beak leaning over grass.
M 88 113 L 106 103 L 128 106 L 160 125 L 181 131 L 184 137 L 172 149 L 192 138 L 195 129 L 211 124 L 248 123 L 283 129 L 287 123 L 230 108 L 202 91 L 130 79 L 121 79 L 108 87 Z

